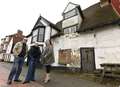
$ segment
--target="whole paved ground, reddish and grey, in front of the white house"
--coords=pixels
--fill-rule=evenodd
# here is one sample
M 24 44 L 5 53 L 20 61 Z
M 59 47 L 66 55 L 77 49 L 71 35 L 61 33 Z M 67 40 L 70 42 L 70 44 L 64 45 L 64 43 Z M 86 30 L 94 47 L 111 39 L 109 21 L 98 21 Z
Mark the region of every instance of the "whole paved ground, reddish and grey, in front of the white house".
M 6 81 L 11 68 L 11 63 L 0 62 L 0 87 L 110 87 L 89 79 L 83 79 L 81 78 L 82 75 L 79 74 L 70 74 L 69 72 L 66 73 L 54 70 L 51 72 L 51 81 L 47 84 L 44 84 L 42 82 L 45 73 L 44 69 L 36 70 L 35 82 L 30 82 L 29 84 L 13 82 L 11 85 L 7 85 Z M 24 66 L 20 76 L 22 81 L 24 81 L 26 72 L 27 67 Z

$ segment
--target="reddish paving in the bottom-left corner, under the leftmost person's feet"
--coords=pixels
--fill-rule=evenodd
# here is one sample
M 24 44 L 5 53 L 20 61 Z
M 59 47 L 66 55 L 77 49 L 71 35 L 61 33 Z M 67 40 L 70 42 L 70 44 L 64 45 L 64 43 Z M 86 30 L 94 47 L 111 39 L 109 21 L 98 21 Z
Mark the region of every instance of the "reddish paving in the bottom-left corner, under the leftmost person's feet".
M 11 65 L 10 65 L 11 66 Z M 31 82 L 29 84 L 22 84 L 22 83 L 18 83 L 18 82 L 12 82 L 11 85 L 7 85 L 7 78 L 10 72 L 9 67 L 5 67 L 5 64 L 0 63 L 0 87 L 44 87 L 39 83 L 36 82 Z M 24 76 L 21 76 L 22 78 Z

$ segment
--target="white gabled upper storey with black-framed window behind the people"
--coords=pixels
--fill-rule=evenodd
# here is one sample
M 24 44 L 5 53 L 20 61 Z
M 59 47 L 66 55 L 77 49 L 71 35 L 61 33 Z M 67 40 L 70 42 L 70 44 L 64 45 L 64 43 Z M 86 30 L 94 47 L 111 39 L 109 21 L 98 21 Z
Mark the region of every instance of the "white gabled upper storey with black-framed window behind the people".
M 45 41 L 58 32 L 60 32 L 60 30 L 53 23 L 40 16 L 31 33 L 27 35 L 28 46 L 30 47 L 32 44 L 38 43 L 42 51 L 45 46 Z

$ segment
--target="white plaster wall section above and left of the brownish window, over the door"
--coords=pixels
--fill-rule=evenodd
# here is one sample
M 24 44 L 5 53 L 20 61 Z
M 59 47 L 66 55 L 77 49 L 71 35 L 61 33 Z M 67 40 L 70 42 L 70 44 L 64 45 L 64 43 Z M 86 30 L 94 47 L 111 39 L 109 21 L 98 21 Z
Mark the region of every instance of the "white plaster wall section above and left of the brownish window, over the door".
M 77 50 L 80 47 L 93 47 L 94 46 L 94 35 L 89 34 L 67 34 L 58 37 L 54 40 L 54 54 L 55 54 L 55 65 L 58 64 L 58 52 L 60 49 L 72 49 Z

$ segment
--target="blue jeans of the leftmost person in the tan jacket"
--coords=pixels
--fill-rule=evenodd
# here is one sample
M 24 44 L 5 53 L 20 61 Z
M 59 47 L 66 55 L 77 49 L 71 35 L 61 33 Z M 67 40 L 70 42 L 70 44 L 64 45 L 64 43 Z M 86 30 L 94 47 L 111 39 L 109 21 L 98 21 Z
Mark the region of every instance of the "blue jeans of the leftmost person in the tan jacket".
M 9 74 L 8 80 L 13 80 L 13 77 L 14 77 L 14 80 L 19 79 L 23 64 L 24 64 L 24 57 L 16 57 L 14 59 L 14 63 L 13 63 L 11 72 Z

